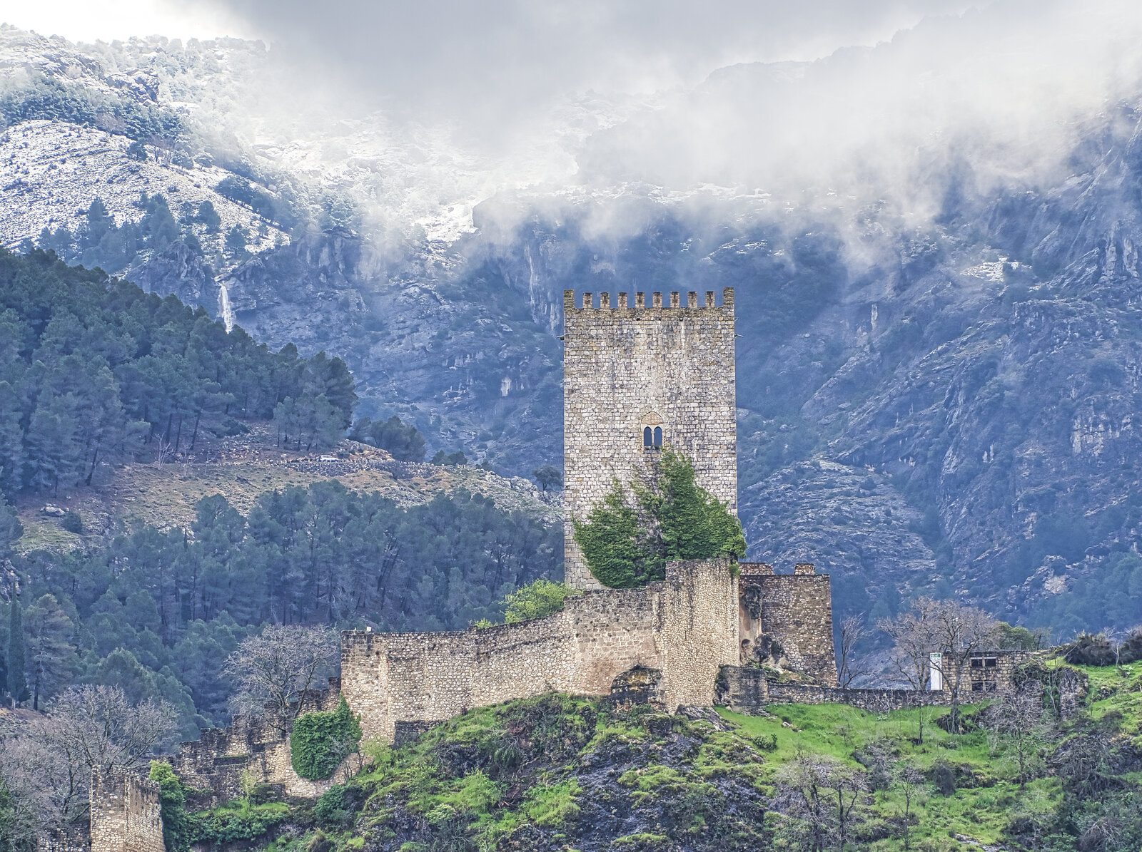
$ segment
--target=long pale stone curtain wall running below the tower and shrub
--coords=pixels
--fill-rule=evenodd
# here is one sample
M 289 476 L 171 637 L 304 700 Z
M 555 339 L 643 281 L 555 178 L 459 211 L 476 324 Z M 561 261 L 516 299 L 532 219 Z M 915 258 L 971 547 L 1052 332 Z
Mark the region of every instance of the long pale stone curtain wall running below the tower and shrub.
M 443 721 L 472 707 L 547 691 L 606 696 L 642 666 L 662 672 L 669 709 L 713 704 L 719 666 L 738 658 L 738 594 L 723 561 L 671 562 L 644 589 L 588 591 L 520 624 L 439 633 L 341 636 L 345 698 L 367 738 L 399 723 Z

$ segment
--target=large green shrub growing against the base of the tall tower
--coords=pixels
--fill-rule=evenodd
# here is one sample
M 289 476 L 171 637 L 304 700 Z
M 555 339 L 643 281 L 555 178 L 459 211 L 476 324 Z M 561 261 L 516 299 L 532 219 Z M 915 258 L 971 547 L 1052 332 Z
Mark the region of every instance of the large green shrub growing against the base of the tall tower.
M 693 463 L 669 447 L 649 477 L 634 478 L 629 495 L 616 482 L 586 521 L 572 524 L 590 573 L 612 589 L 662 579 L 673 560 L 746 554 L 741 524 L 698 485 Z

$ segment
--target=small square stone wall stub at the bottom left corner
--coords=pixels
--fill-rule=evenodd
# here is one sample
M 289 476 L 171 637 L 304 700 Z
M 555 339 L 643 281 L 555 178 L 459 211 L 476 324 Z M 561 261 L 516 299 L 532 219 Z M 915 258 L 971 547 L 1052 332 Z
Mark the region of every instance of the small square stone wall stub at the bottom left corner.
M 131 772 L 91 776 L 91 852 L 166 852 L 159 785 Z

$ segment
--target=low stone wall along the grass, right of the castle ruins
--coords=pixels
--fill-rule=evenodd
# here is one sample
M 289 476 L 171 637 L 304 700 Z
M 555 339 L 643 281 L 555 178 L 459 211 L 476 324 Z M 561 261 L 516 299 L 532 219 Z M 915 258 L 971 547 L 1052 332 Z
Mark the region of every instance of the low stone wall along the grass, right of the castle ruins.
M 761 668 L 726 666 L 718 676 L 719 699 L 735 713 L 756 713 L 770 704 L 847 704 L 871 713 L 910 707 L 946 707 L 948 692 L 914 689 L 839 689 L 767 680 Z

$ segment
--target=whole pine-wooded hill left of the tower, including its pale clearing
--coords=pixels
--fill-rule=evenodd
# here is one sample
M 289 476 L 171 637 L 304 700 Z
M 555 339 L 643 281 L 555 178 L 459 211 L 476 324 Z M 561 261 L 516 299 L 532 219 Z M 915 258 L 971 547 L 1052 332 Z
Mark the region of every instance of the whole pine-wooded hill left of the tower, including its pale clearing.
M 550 512 L 474 493 L 510 490 L 485 471 L 394 473 L 373 451 L 282 460 L 340 443 L 355 403 L 338 358 L 272 352 L 175 297 L 0 252 L 0 691 L 43 708 L 69 685 L 114 684 L 168 701 L 193 739 L 228 719 L 223 662 L 263 624 L 464 628 L 557 576 Z M 376 425 L 361 437 L 423 457 L 415 429 Z M 236 436 L 256 446 L 225 463 L 202 452 Z M 276 466 L 244 465 L 274 447 Z M 42 516 L 56 495 L 81 511 Z

